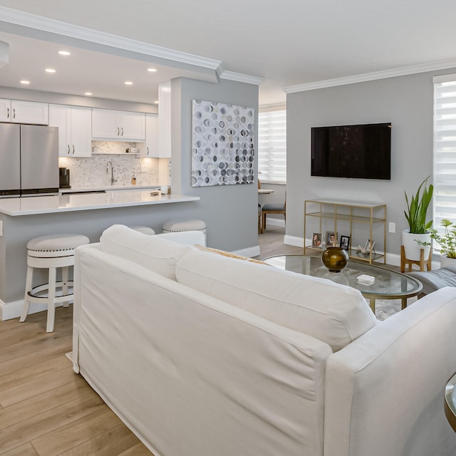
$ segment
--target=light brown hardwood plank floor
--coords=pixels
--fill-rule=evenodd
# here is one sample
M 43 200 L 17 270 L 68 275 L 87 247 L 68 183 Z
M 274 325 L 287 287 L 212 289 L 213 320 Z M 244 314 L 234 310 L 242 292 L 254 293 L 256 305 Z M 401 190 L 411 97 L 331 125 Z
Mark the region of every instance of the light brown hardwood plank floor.
M 300 254 L 283 244 L 284 228 L 259 236 L 261 258 Z M 0 455 L 152 455 L 135 435 L 73 372 L 72 306 L 56 309 L 53 333 L 46 312 L 0 321 Z

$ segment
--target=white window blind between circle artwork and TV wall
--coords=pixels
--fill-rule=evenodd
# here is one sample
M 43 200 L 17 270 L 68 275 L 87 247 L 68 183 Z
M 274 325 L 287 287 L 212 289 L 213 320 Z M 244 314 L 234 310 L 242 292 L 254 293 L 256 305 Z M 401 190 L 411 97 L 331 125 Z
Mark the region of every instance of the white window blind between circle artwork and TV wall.
M 258 157 L 261 182 L 286 183 L 286 110 L 258 113 Z

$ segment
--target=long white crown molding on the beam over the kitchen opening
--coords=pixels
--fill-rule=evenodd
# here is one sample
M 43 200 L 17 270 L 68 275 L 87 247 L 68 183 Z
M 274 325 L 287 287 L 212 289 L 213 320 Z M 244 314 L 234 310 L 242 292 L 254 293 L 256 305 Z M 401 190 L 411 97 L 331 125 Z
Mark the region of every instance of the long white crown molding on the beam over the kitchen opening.
M 93 28 L 86 28 L 68 24 L 66 22 L 56 21 L 54 19 L 48 19 L 43 16 L 36 16 L 35 14 L 29 14 L 24 11 L 18 11 L 4 6 L 0 6 L 0 18 L 1 21 L 18 26 L 34 28 L 36 30 L 56 33 L 58 35 L 68 36 L 84 41 L 91 41 L 104 46 L 113 46 L 125 51 L 142 53 L 147 56 L 187 63 L 209 70 L 219 71 L 219 67 L 221 65 L 220 61 L 212 58 L 205 58 L 195 56 L 190 53 L 174 51 L 173 49 L 163 48 L 162 46 L 155 46 L 143 41 L 136 41 L 130 38 L 124 38 L 123 36 L 113 35 L 112 33 L 94 30 Z

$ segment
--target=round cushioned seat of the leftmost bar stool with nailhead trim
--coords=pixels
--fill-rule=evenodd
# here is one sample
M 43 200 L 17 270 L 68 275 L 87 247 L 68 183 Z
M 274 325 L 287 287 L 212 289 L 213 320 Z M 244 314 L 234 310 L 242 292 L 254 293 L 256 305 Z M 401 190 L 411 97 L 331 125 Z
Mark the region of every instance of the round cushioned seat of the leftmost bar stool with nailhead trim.
M 71 257 L 74 249 L 88 244 L 90 239 L 83 234 L 51 234 L 50 236 L 34 237 L 27 243 L 27 253 L 30 257 L 55 258 Z

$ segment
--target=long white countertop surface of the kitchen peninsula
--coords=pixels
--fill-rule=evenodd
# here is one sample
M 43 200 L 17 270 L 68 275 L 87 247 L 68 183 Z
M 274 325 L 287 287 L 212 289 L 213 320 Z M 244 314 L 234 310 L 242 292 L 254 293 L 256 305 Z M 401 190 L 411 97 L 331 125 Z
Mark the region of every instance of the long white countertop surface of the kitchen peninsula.
M 106 193 L 88 193 L 47 197 L 0 199 L 0 214 L 11 216 L 51 214 L 56 212 L 109 209 L 149 204 L 197 201 L 199 197 L 185 195 L 150 195 L 150 190 L 116 190 Z

